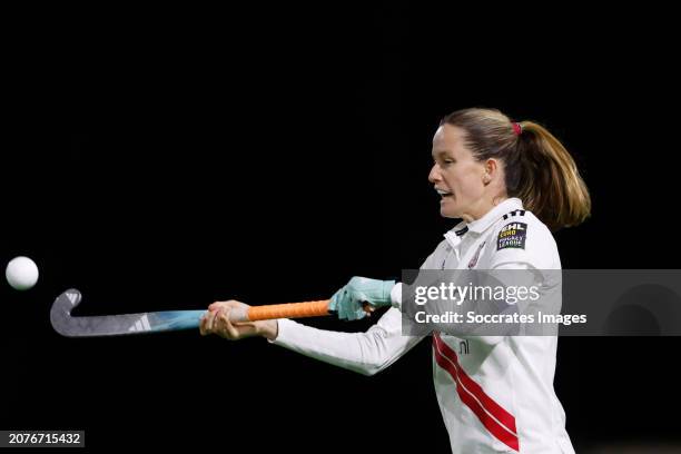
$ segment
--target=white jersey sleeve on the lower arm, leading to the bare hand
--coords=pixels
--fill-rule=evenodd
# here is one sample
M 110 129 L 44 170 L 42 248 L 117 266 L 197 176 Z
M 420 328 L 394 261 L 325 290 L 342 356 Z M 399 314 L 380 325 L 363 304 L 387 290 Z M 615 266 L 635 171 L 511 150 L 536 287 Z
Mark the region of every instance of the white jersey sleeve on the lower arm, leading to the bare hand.
M 388 309 L 366 333 L 342 333 L 317 329 L 294 320 L 278 320 L 278 335 L 273 344 L 305 356 L 374 375 L 414 347 L 423 337 L 402 335 L 402 315 Z

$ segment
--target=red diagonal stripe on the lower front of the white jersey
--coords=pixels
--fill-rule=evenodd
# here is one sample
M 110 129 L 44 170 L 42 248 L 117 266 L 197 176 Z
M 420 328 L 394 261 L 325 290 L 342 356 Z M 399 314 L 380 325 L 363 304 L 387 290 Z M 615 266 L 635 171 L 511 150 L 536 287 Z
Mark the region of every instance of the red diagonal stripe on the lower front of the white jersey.
M 447 371 L 456 383 L 456 394 L 494 437 L 506 446 L 520 451 L 515 417 L 494 402 L 483 388 L 464 372 L 456 353 L 433 334 L 433 353 L 440 367 Z

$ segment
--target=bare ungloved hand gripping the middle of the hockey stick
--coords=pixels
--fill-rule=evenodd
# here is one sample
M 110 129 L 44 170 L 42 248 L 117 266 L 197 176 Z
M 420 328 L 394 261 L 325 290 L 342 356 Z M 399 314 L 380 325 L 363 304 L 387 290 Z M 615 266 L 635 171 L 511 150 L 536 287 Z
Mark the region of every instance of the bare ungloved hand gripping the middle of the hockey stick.
M 249 307 L 247 304 L 235 299 L 213 303 L 208 306 L 208 312 L 201 317 L 199 324 L 201 336 L 217 334 L 229 340 L 263 336 L 274 340 L 277 337 L 277 320 L 229 322 L 229 313 L 231 310 L 240 309 L 240 312 L 247 312 Z

